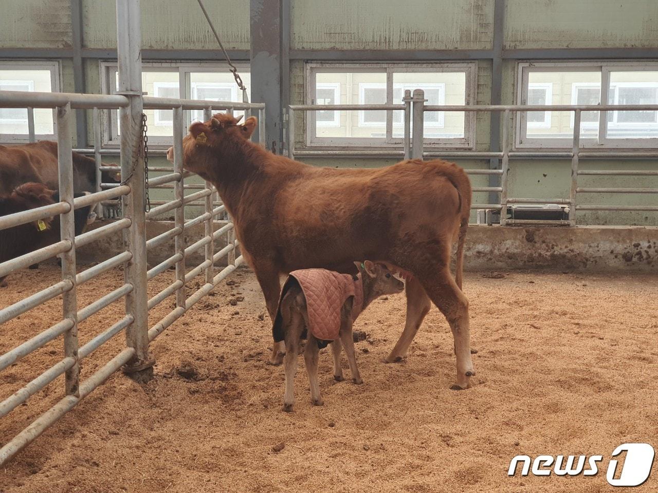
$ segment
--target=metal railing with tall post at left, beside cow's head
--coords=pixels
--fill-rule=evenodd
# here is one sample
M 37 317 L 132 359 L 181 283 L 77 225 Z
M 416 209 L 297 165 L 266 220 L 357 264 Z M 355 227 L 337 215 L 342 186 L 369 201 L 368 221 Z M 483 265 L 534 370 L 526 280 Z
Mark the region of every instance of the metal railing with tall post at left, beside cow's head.
M 20 362 L 22 358 L 43 348 L 49 342 L 63 336 L 63 358 L 46 371 L 38 375 L 24 387 L 0 402 L 0 418 L 25 402 L 42 388 L 49 385 L 60 375 L 65 375 L 64 397 L 53 407 L 39 415 L 30 425 L 0 448 L 0 465 L 6 463 L 22 448 L 30 444 L 39 434 L 53 425 L 66 412 L 70 411 L 89 392 L 99 387 L 107 377 L 121 367 L 128 371 L 143 369 L 153 364 L 148 354 L 149 343 L 182 316 L 191 306 L 208 294 L 222 279 L 225 279 L 243 262 L 236 253 L 239 244 L 234 235 L 234 225 L 230 218 L 223 222 L 215 220 L 225 214 L 226 208 L 216 198 L 216 190 L 206 182 L 199 191 L 185 195 L 184 179 L 187 172 L 183 169 L 182 139 L 184 137 L 184 111 L 203 109 L 206 118 L 213 110 L 243 109 L 247 114 L 259 112 L 261 126 L 260 138 L 265 136 L 265 105 L 249 103 L 230 103 L 216 101 L 192 101 L 185 99 L 161 99 L 143 97 L 141 93 L 141 59 L 139 57 L 139 2 L 134 0 L 117 0 L 118 16 L 118 53 L 119 83 L 118 95 L 84 95 L 70 93 L 22 93 L 0 91 L 0 108 L 53 108 L 57 111 L 56 130 L 58 142 L 58 169 L 60 202 L 8 216 L 0 216 L 0 231 L 17 225 L 42 220 L 51 216 L 60 216 L 60 241 L 39 248 L 28 254 L 0 263 L 0 277 L 26 268 L 56 255 L 61 256 L 61 281 L 41 289 L 37 293 L 14 302 L 0 309 L 0 324 L 10 323 L 16 317 L 25 314 L 39 305 L 62 296 L 63 316 L 60 321 L 34 335 L 12 350 L 0 355 L 0 371 Z M 141 114 L 143 109 L 164 108 L 173 110 L 174 114 L 174 166 L 163 167 L 171 171 L 165 176 L 151 179 L 151 185 L 161 187 L 172 185 L 174 199 L 146 213 L 144 208 L 145 189 L 143 186 L 143 147 L 141 147 Z M 84 197 L 74 198 L 72 168 L 72 110 L 93 110 L 95 144 L 93 154 L 97 164 L 96 192 Z M 120 110 L 120 168 L 124 185 L 103 187 L 101 183 L 101 126 L 100 109 Z M 28 110 L 28 115 L 32 114 Z M 28 118 L 29 119 L 29 118 Z M 30 131 L 34 139 L 34 124 Z M 154 167 L 153 170 L 160 171 Z M 104 188 L 104 189 L 103 189 Z M 102 190 L 102 191 L 101 191 Z M 100 204 L 103 201 L 120 198 L 122 200 L 122 218 L 75 235 L 74 210 L 83 206 Z M 185 206 L 203 204 L 203 213 L 193 219 L 185 219 Z M 161 212 L 172 211 L 175 217 L 174 227 L 156 237 L 146 240 L 145 226 Z M 194 225 L 204 224 L 204 234 L 192 245 L 186 245 L 186 231 Z M 219 225 L 216 229 L 215 226 Z M 122 252 L 87 268 L 77 271 L 76 249 L 93 241 L 122 235 Z M 216 241 L 226 238 L 226 246 L 215 252 Z M 174 240 L 174 254 L 153 268 L 147 266 L 147 251 Z M 203 248 L 203 262 L 188 270 L 186 260 Z M 216 265 L 226 259 L 225 268 L 215 273 Z M 147 283 L 169 267 L 174 266 L 175 281 L 151 298 L 147 295 Z M 76 290 L 79 285 L 95 279 L 99 275 L 122 267 L 124 281 L 117 289 L 101 296 L 88 306 L 78 306 Z M 205 276 L 205 283 L 190 296 L 186 296 L 186 283 L 198 275 Z M 9 279 L 11 281 L 11 278 Z M 148 312 L 161 304 L 168 296 L 176 296 L 176 307 L 162 319 L 149 326 Z M 97 314 L 110 304 L 124 299 L 125 310 L 116 320 L 109 321 L 108 327 L 101 327 L 85 344 L 78 341 L 78 323 Z M 87 358 L 102 344 L 111 340 L 122 331 L 126 332 L 126 348 L 120 350 L 109 362 L 102 365 L 88 378 L 80 379 L 80 361 Z

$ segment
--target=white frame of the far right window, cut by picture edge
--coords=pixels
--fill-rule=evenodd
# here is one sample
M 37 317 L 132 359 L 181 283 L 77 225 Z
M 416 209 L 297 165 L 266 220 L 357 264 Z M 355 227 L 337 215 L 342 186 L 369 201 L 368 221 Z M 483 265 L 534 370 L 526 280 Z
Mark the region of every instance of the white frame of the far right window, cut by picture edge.
M 526 88 L 528 87 L 528 74 L 530 72 L 597 72 L 601 74 L 600 101 L 609 101 L 610 74 L 612 72 L 658 72 L 658 60 L 551 60 L 532 61 L 524 60 L 517 62 L 517 105 L 526 105 Z M 633 83 L 634 85 L 638 83 Z M 573 98 L 573 96 L 572 96 Z M 573 101 L 573 99 L 572 99 Z M 570 112 L 570 128 L 573 128 L 573 112 Z M 613 112 L 616 113 L 616 112 Z M 638 149 L 655 149 L 658 147 L 658 138 L 615 138 L 607 136 L 607 114 L 608 111 L 599 111 L 598 135 L 594 138 L 584 137 L 582 128 L 587 124 L 581 124 L 580 147 L 590 151 L 605 149 L 619 149 L 637 151 Z M 591 122 L 588 122 L 591 124 Z M 526 112 L 515 112 L 514 116 L 515 150 L 557 150 L 561 151 L 572 146 L 572 138 L 567 139 L 542 139 L 527 137 Z M 532 127 L 530 127 L 532 128 Z M 594 125 L 590 128 L 595 128 Z

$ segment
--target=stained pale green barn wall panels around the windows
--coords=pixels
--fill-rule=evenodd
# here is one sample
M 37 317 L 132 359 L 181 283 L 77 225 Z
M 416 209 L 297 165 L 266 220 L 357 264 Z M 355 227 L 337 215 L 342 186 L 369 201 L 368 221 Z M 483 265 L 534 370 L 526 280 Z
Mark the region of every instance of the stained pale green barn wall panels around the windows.
M 116 49 L 116 14 L 114 2 L 103 0 L 81 1 L 82 47 L 85 50 Z M 437 51 L 436 61 L 445 59 L 446 51 L 464 53 L 464 59 L 474 57 L 478 62 L 476 103 L 491 102 L 492 56 L 468 50 L 492 53 L 496 27 L 494 9 L 501 0 L 409 0 L 401 8 L 399 2 L 363 0 L 280 0 L 288 3 L 290 12 L 290 49 L 305 51 L 304 60 L 290 61 L 290 80 L 282 91 L 290 91 L 290 103 L 305 101 L 305 60 L 325 58 L 331 51 L 335 61 L 341 62 L 340 51 L 372 51 L 378 53 L 397 50 L 413 54 L 415 51 Z M 206 2 L 206 7 L 230 50 L 250 49 L 250 3 L 238 0 Z M 26 0 L 6 2 L 0 17 L 0 53 L 20 50 L 24 59 L 30 49 L 70 49 L 74 40 L 71 30 L 71 0 Z M 592 8 L 590 0 L 505 0 L 503 22 L 503 56 L 513 51 L 524 51 L 528 60 L 533 55 L 545 57 L 547 49 L 657 49 L 658 2 L 654 0 L 599 0 Z M 216 43 L 193 0 L 141 0 L 143 48 L 149 50 L 185 50 L 186 59 L 193 60 L 194 50 L 213 50 Z M 26 52 L 27 50 L 27 52 Z M 323 52 L 326 52 L 323 54 Z M 37 52 L 35 52 L 37 53 Z M 110 52 L 111 53 L 111 52 Z M 99 55 L 101 56 L 101 55 Z M 110 56 L 110 55 L 107 55 Z M 411 55 L 410 55 L 411 56 Z M 583 55 L 585 56 L 585 55 Z M 637 55 L 635 55 L 637 56 Z M 1 55 L 0 55 L 1 57 Z M 482 58 L 484 57 L 484 58 Z M 16 57 L 13 57 L 16 59 Z M 61 58 L 63 91 L 74 91 L 74 65 L 70 58 Z M 108 58 L 103 58 L 107 60 Z M 218 53 L 217 59 L 220 60 Z M 84 58 L 85 89 L 89 93 L 101 91 L 99 60 Z M 428 59 L 431 60 L 431 59 Z M 502 62 L 501 103 L 516 102 L 517 60 Z M 286 101 L 286 97 L 284 97 Z M 91 122 L 91 112 L 88 113 Z M 90 127 L 90 124 L 89 126 Z M 297 147 L 305 143 L 303 118 L 297 118 Z M 93 131 L 88 128 L 89 144 Z M 490 119 L 478 114 L 476 122 L 476 151 L 490 147 Z M 111 159 L 111 158 L 109 158 Z M 322 166 L 382 166 L 395 159 L 364 158 L 304 158 Z M 155 158 L 153 164 L 163 164 Z M 486 168 L 486 160 L 457 160 L 468 168 Z M 581 166 L 596 169 L 655 169 L 655 160 L 583 161 Z M 570 162 L 566 160 L 513 160 L 509 179 L 510 197 L 568 197 Z M 487 185 L 486 177 L 474 177 L 475 185 Z M 590 177 L 586 186 L 602 187 L 658 187 L 658 180 L 646 177 Z M 154 191 L 152 198 L 166 198 L 168 191 Z M 654 195 L 586 195 L 581 203 L 647 204 L 655 203 Z M 653 202 L 651 202 L 653 200 Z M 477 194 L 476 202 L 488 202 L 486 194 Z M 647 212 L 598 212 L 578 215 L 579 222 L 599 224 L 658 225 L 658 214 Z

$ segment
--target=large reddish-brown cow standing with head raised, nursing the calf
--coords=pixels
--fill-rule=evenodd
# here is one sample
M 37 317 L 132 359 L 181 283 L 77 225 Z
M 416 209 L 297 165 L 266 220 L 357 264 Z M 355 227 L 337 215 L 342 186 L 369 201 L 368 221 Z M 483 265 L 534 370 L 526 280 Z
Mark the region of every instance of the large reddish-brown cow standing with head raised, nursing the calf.
M 432 300 L 455 341 L 452 388 L 470 387 L 468 300 L 461 291 L 472 195 L 467 174 L 441 160 L 405 160 L 379 169 L 316 168 L 249 141 L 256 118 L 237 123 L 228 114 L 193 123 L 183 139 L 184 166 L 217 187 L 270 317 L 276 314 L 282 273 L 307 268 L 353 273 L 353 260 L 387 262 L 412 277 L 405 329 L 386 361 L 405 358 Z M 168 157 L 172 154 L 170 149 Z M 453 279 L 449 259 L 456 239 Z M 270 362 L 280 364 L 283 354 L 282 344 L 274 344 Z

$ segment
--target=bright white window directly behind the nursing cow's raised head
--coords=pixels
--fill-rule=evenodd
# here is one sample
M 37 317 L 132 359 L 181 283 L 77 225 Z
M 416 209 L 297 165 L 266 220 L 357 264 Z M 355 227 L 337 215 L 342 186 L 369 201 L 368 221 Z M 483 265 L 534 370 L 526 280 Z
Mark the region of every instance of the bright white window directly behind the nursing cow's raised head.
M 248 64 L 236 64 L 247 89 L 251 88 Z M 114 94 L 118 85 L 116 62 L 101 63 L 101 85 L 103 93 Z M 203 99 L 207 101 L 242 102 L 233 74 L 226 64 L 218 63 L 172 63 L 144 62 L 141 73 L 142 90 L 149 96 Z M 149 145 L 169 146 L 174 135 L 172 110 L 145 110 L 149 126 Z M 239 115 L 242 112 L 236 111 Z M 203 111 L 184 110 L 184 126 L 203 120 Z M 119 142 L 120 127 L 118 110 L 105 112 L 104 143 L 116 145 Z

